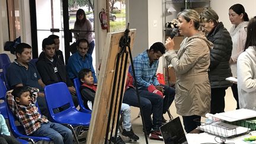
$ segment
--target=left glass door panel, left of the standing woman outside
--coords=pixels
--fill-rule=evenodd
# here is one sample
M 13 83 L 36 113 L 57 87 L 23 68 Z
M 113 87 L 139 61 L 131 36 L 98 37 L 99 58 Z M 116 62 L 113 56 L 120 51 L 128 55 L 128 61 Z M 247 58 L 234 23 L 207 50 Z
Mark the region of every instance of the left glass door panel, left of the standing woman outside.
M 38 55 L 42 52 L 41 44 L 43 39 L 51 34 L 59 36 L 59 50 L 63 52 L 63 55 L 65 54 L 62 9 L 61 0 L 36 0 Z

